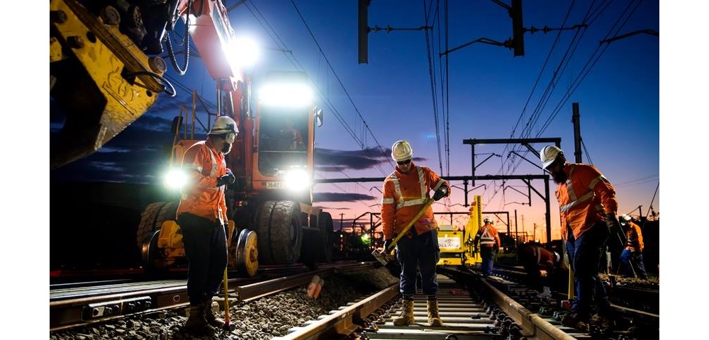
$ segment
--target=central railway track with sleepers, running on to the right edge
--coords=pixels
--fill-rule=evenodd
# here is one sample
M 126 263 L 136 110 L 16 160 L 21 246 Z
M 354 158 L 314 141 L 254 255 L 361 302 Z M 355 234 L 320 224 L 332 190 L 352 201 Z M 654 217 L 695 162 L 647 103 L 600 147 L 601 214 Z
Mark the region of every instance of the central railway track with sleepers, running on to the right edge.
M 442 327 L 427 320 L 425 297 L 415 295 L 415 324 L 395 326 L 401 312 L 398 285 L 333 310 L 277 339 L 657 339 L 659 315 L 618 307 L 613 334 L 602 335 L 562 326 L 568 312 L 562 297 L 537 297 L 537 292 L 503 278 L 440 270 L 439 307 Z M 504 293 L 508 292 L 510 295 Z M 530 309 L 531 308 L 531 309 Z M 631 327 L 631 325 L 633 325 Z

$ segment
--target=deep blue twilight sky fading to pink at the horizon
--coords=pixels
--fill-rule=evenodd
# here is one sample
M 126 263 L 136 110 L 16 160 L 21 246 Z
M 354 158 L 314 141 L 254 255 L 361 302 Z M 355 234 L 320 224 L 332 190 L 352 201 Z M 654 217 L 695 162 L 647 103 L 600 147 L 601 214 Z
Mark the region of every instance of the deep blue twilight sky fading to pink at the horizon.
M 598 166 L 613 183 L 619 214 L 637 217 L 640 205 L 643 215 L 650 205 L 659 212 L 659 0 L 523 1 L 525 28 L 539 29 L 525 33 L 523 57 L 483 43 L 512 37 L 510 18 L 498 2 L 510 1 L 372 0 L 369 27 L 393 30 L 369 33 L 367 64 L 357 62 L 355 0 L 249 0 L 230 17 L 237 35 L 263 47 L 255 86 L 274 69 L 306 71 L 318 86 L 325 124 L 316 131 L 316 179 L 384 177 L 393 170 L 390 147 L 400 139 L 413 145 L 416 164 L 442 176 L 471 176 L 467 139 L 560 137 L 573 161 L 572 103 L 579 103 L 583 162 Z M 423 26 L 432 30 L 418 29 Z M 622 35 L 627 37 L 601 43 Z M 478 42 L 461 47 L 473 41 Z M 440 56 L 456 47 L 461 48 Z M 168 67 L 177 96 L 163 94 L 99 152 L 51 171 L 50 181 L 159 183 L 162 148 L 172 140 L 169 122 L 179 104 L 189 105 L 192 89 L 211 103 L 216 98 L 199 57 L 191 57 L 184 76 Z M 50 100 L 50 135 L 61 119 Z M 542 174 L 538 153 L 519 145 L 476 145 L 476 155 L 477 176 Z M 451 184 L 463 187 L 460 181 Z M 469 200 L 481 195 L 484 211 L 508 211 L 511 219 L 516 213 L 520 232 L 532 234 L 537 225 L 539 238 L 545 205 L 535 191 L 527 196 L 520 180 L 475 184 L 485 186 Z M 532 186 L 544 193 L 543 181 Z M 352 220 L 379 212 L 379 188 L 379 182 L 318 184 L 316 205 L 335 220 Z M 450 200 L 436 203 L 435 211 L 467 211 L 459 188 Z M 557 239 L 554 188 L 551 183 Z

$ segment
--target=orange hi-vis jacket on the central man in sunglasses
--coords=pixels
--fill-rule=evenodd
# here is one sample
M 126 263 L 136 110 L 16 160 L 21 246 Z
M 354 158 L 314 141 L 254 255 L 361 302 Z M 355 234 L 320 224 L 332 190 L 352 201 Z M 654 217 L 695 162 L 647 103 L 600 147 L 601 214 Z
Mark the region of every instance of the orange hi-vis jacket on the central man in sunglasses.
M 429 193 L 435 188 L 446 186 L 450 195 L 450 186 L 441 179 L 435 171 L 427 166 L 416 166 L 411 163 L 411 171 L 404 174 L 398 166 L 394 172 L 384 179 L 384 190 L 381 196 L 381 229 L 384 239 L 393 239 L 394 233 L 399 234 L 408 222 L 421 210 Z M 423 234 L 438 227 L 429 206 L 423 215 L 414 223 L 417 234 Z

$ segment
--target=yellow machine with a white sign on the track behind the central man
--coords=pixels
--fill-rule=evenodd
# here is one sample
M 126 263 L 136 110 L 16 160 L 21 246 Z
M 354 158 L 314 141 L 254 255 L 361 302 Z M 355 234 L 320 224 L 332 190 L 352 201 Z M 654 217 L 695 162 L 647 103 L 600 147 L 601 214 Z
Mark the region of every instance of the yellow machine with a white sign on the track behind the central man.
M 463 230 L 457 230 L 452 225 L 441 225 L 438 228 L 438 245 L 441 257 L 438 266 L 473 267 L 482 259 L 475 252 L 473 241 L 475 234 L 482 225 L 482 198 L 474 197 L 470 206 L 470 217 Z

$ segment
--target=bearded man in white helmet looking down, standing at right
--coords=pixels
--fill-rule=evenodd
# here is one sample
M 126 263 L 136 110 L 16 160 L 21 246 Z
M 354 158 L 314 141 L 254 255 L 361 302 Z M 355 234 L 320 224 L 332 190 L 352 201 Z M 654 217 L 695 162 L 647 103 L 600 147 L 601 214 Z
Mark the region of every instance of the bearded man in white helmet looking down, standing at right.
M 598 270 L 610 232 L 620 228 L 615 188 L 596 166 L 566 162 L 562 149 L 554 145 L 542 148 L 540 160 L 557 183 L 562 239 L 574 271 L 576 298 L 562 324 L 588 331 L 593 322 L 604 333 L 611 331 L 612 310 Z

